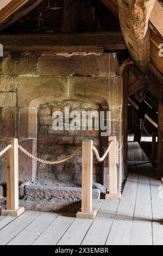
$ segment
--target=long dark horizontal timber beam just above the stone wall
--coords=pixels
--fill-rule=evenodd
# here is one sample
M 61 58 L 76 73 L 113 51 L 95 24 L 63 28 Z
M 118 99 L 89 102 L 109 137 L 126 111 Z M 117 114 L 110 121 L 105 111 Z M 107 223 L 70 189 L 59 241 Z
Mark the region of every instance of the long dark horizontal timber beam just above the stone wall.
M 121 32 L 0 35 L 4 51 L 74 52 L 124 50 Z

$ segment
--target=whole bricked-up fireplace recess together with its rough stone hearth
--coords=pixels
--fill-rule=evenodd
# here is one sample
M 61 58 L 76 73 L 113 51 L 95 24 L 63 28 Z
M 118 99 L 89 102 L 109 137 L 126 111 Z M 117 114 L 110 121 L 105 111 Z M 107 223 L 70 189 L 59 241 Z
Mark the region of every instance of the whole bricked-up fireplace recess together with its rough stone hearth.
M 69 109 L 68 123 L 71 125 L 71 113 L 78 113 L 75 125 L 81 124 L 80 129 L 65 130 L 65 108 Z M 100 122 L 102 106 L 98 103 L 62 100 L 43 103 L 37 107 L 37 157 L 43 160 L 62 160 L 82 146 L 84 140 L 92 140 L 100 155 L 103 155 L 105 146 L 108 148 L 108 137 L 101 137 L 101 130 L 97 130 L 97 120 Z M 83 112 L 93 113 L 92 130 L 89 118 L 86 126 L 83 124 Z M 54 114 L 57 113 L 55 116 Z M 62 114 L 63 129 L 54 129 L 54 121 Z M 97 115 L 97 116 L 96 116 Z M 82 118 L 82 119 L 81 119 Z M 105 116 L 104 116 L 105 120 Z M 99 124 L 98 124 L 99 125 Z M 84 129 L 83 129 L 84 127 Z M 99 127 L 101 127 L 99 125 Z M 92 197 L 99 199 L 106 193 L 104 180 L 108 160 L 99 163 L 93 156 L 93 192 Z M 20 189 L 21 193 L 21 189 Z M 36 179 L 23 184 L 23 205 L 35 210 L 59 210 L 68 203 L 82 199 L 82 150 L 72 159 L 60 164 L 37 163 Z M 25 200 L 24 200 L 25 199 Z

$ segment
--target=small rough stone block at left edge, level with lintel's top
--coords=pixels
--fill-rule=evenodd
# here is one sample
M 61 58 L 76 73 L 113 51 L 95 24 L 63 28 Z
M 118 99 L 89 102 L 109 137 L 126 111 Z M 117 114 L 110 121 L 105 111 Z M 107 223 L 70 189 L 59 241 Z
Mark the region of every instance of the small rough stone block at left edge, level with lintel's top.
M 15 92 L 17 87 L 16 78 L 12 76 L 0 76 L 0 92 Z

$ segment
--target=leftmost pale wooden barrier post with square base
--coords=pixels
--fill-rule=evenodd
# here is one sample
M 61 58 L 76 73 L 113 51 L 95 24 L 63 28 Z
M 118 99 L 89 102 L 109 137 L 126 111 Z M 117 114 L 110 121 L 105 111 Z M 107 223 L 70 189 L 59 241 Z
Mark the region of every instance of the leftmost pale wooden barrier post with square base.
M 7 210 L 1 215 L 17 217 L 24 212 L 18 206 L 18 139 L 10 139 L 7 144 L 12 145 L 7 151 Z

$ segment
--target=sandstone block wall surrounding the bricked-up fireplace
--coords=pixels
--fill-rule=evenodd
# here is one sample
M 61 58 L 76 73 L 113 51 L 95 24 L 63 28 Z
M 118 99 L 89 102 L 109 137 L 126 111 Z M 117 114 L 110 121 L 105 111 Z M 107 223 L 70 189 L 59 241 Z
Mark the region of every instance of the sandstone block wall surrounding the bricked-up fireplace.
M 122 77 L 115 53 L 5 53 L 0 69 L 0 136 L 19 138 L 37 153 L 37 108 L 61 100 L 93 102 L 111 111 L 111 135 L 120 143 L 118 184 L 123 179 Z M 107 146 L 107 138 L 102 148 Z M 106 143 L 106 145 L 105 145 Z M 2 142 L 3 145 L 3 142 Z M 3 146 L 2 146 L 3 147 Z M 5 182 L 1 160 L 1 182 Z M 20 182 L 33 180 L 36 164 L 20 153 Z M 28 164 L 27 164 L 28 163 Z M 107 169 L 107 164 L 105 164 Z

